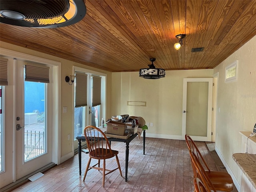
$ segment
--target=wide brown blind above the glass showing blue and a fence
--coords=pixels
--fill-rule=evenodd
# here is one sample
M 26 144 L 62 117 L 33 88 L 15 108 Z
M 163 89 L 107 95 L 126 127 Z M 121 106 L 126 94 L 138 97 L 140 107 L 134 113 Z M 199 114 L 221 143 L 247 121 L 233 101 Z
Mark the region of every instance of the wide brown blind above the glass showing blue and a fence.
M 25 81 L 32 81 L 32 82 L 42 82 L 42 83 L 50 83 L 49 80 L 49 71 L 50 67 L 24 62 L 25 64 Z

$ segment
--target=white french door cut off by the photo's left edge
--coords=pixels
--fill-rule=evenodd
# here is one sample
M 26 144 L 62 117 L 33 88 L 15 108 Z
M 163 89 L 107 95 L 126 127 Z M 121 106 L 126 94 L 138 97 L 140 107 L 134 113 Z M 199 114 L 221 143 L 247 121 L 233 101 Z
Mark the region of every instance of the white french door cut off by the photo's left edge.
M 0 188 L 15 181 L 14 63 L 8 61 L 8 86 L 2 86 Z M 12 76 L 11 76 L 12 75 Z

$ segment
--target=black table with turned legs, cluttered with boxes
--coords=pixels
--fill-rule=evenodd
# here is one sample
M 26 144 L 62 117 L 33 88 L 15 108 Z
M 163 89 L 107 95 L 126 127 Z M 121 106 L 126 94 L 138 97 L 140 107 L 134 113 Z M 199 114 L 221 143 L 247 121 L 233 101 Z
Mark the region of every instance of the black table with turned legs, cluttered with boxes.
M 134 138 L 136 138 L 136 136 L 138 136 L 137 133 L 132 134 L 129 138 L 127 139 L 121 139 L 121 138 L 112 138 L 112 137 L 108 137 L 108 141 L 111 142 L 112 141 L 117 141 L 117 142 L 124 142 L 126 143 L 126 152 L 125 152 L 125 181 L 127 181 L 127 175 L 128 175 L 128 160 L 129 160 L 129 144 L 132 140 L 134 140 Z M 78 140 L 78 161 L 79 161 L 79 175 L 82 174 L 82 170 L 81 170 L 81 158 L 82 158 L 82 144 L 81 142 L 85 142 L 85 137 L 83 135 L 79 135 L 76 137 L 76 139 Z M 146 132 L 145 130 L 143 130 L 143 154 L 145 154 L 145 141 L 146 141 Z

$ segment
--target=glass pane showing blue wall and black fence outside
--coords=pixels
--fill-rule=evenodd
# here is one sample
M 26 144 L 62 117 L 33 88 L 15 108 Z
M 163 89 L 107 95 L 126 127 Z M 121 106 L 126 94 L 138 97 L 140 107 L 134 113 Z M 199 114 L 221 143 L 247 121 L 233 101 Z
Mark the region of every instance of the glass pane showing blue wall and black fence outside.
M 24 161 L 46 153 L 45 83 L 24 82 Z

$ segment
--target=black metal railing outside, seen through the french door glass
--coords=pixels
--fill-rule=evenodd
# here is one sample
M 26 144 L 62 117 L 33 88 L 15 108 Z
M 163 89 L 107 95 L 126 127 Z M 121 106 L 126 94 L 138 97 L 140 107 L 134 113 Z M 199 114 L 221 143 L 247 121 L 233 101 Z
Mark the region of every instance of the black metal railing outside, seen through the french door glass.
M 24 161 L 30 160 L 41 154 L 44 154 L 45 150 L 45 133 L 43 132 L 24 132 Z

